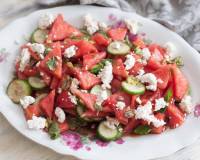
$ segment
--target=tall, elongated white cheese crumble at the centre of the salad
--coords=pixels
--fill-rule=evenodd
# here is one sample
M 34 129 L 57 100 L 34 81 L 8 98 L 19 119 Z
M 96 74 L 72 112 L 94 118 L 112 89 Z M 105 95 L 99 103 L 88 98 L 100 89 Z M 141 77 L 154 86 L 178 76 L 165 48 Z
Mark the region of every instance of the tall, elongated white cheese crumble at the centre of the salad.
M 110 83 L 113 79 L 112 74 L 112 64 L 109 61 L 106 61 L 106 65 L 103 69 L 101 69 L 98 77 L 101 78 L 101 81 L 103 82 L 102 87 L 105 88 L 111 88 Z

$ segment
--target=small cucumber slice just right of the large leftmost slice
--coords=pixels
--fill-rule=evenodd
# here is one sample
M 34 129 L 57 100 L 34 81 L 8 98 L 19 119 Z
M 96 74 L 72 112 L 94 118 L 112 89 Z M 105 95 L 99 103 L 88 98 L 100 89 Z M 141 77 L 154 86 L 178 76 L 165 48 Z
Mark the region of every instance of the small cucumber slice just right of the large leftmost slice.
M 39 78 L 39 77 L 29 77 L 28 83 L 33 87 L 34 89 L 43 89 L 46 87 L 45 82 Z

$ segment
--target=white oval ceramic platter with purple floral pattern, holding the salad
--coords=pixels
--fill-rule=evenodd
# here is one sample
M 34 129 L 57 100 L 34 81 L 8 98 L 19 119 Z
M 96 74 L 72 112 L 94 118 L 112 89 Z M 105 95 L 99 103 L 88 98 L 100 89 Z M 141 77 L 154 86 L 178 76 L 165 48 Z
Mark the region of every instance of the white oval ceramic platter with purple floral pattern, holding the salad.
M 200 135 L 200 119 L 190 115 L 185 124 L 175 130 L 167 131 L 161 135 L 149 135 L 142 137 L 124 138 L 123 145 L 116 143 L 109 144 L 108 147 L 100 148 L 96 144 L 91 144 L 91 151 L 74 151 L 63 145 L 60 140 L 52 141 L 47 134 L 42 131 L 31 131 L 27 129 L 22 109 L 13 104 L 6 95 L 6 87 L 12 79 L 14 61 L 18 55 L 19 45 L 16 40 L 24 43 L 24 35 L 36 28 L 37 20 L 42 13 L 51 12 L 53 14 L 62 13 L 65 19 L 76 25 L 82 25 L 82 16 L 91 13 L 99 21 L 109 22 L 108 15 L 111 13 L 119 19 L 131 18 L 142 23 L 141 31 L 145 32 L 153 41 L 160 44 L 171 41 L 177 46 L 177 51 L 185 61 L 184 72 L 190 81 L 194 102 L 200 102 L 199 98 L 199 78 L 200 78 L 200 55 L 190 47 L 180 36 L 166 29 L 165 27 L 151 20 L 142 18 L 134 13 L 122 12 L 113 8 L 102 8 L 93 6 L 65 6 L 34 12 L 27 17 L 18 19 L 8 25 L 0 32 L 0 48 L 6 48 L 8 52 L 0 54 L 0 111 L 7 118 L 10 124 L 27 138 L 44 145 L 60 154 L 73 155 L 81 159 L 103 160 L 131 160 L 131 159 L 152 159 L 167 156 L 173 152 L 192 144 Z M 3 61 L 2 57 L 6 57 Z M 2 58 L 2 59 L 1 59 Z

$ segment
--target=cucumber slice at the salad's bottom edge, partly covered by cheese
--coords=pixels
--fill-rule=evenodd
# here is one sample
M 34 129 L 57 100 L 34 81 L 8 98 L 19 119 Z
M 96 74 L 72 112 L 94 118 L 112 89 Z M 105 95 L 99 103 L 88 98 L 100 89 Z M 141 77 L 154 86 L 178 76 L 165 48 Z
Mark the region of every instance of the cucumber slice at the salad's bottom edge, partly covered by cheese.
M 106 121 L 103 121 L 99 124 L 97 128 L 97 136 L 104 141 L 116 140 L 119 134 L 118 128 L 108 128 L 105 123 Z

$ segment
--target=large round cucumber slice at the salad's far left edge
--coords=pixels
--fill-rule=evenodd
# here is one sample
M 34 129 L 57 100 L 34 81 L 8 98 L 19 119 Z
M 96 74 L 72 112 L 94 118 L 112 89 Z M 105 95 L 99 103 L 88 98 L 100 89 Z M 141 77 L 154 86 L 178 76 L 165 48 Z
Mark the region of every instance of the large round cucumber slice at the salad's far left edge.
M 14 103 L 19 103 L 20 99 L 31 95 L 31 87 L 24 80 L 13 80 L 7 88 L 7 95 Z

